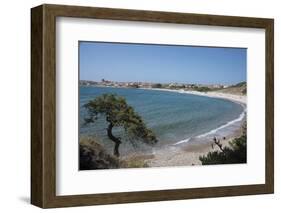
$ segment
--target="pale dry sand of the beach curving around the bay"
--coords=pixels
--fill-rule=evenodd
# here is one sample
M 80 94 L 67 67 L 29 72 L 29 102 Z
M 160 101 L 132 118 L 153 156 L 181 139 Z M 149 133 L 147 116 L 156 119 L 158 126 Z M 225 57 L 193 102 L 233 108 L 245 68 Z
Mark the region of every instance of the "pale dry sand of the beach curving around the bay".
M 196 141 L 192 142 L 190 138 L 179 141 L 175 143 L 175 146 L 169 146 L 164 148 L 163 150 L 157 150 L 154 152 L 154 157 L 147 160 L 146 163 L 150 167 L 160 167 L 160 166 L 187 166 L 187 165 L 201 165 L 201 161 L 199 157 L 202 155 L 207 155 L 210 151 L 218 150 L 218 147 L 213 146 L 213 141 L 209 140 L 208 142 L 201 143 L 200 140 L 215 133 L 216 131 L 223 129 L 229 125 L 232 125 L 235 122 L 240 122 L 239 127 L 234 131 L 225 135 L 223 138 L 220 138 L 220 141 L 223 146 L 229 146 L 229 142 L 234 138 L 240 137 L 242 135 L 242 124 L 245 120 L 245 112 L 247 108 L 247 96 L 243 95 L 233 95 L 228 93 L 220 93 L 220 92 L 197 92 L 197 91 L 184 91 L 184 90 L 170 90 L 170 89 L 158 89 L 152 88 L 151 90 L 159 90 L 159 91 L 168 91 L 168 92 L 178 92 L 192 95 L 201 95 L 213 98 L 222 98 L 229 101 L 233 101 L 235 103 L 241 104 L 244 108 L 244 111 L 240 116 L 233 120 L 229 121 L 227 124 L 218 127 L 215 130 L 212 130 L 208 133 L 204 133 L 196 137 Z

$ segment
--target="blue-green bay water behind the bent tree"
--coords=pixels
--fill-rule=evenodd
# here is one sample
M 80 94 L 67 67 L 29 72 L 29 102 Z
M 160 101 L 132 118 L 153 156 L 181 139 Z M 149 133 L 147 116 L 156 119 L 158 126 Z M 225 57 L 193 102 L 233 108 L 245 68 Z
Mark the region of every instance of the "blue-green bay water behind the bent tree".
M 86 110 L 83 105 L 105 93 L 114 93 L 126 98 L 127 103 L 134 107 L 146 125 L 156 134 L 159 139 L 157 148 L 215 133 L 214 130 L 228 126 L 244 111 L 240 104 L 205 96 L 144 89 L 80 87 L 80 137 L 94 137 L 110 153 L 113 143 L 107 139 L 106 122 L 100 119 L 94 124 L 84 125 Z M 126 141 L 122 129 L 114 131 Z M 135 147 L 130 143 L 123 143 L 120 149 L 123 155 L 136 150 L 150 150 L 147 146 Z

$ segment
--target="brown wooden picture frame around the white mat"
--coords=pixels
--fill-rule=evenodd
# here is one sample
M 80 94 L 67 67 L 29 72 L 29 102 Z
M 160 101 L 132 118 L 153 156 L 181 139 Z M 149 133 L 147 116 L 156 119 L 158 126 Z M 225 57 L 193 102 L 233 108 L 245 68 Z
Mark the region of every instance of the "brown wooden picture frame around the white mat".
M 265 29 L 265 184 L 87 195 L 56 195 L 56 17 Z M 267 194 L 274 191 L 273 19 L 41 5 L 31 9 L 31 203 L 42 208 Z

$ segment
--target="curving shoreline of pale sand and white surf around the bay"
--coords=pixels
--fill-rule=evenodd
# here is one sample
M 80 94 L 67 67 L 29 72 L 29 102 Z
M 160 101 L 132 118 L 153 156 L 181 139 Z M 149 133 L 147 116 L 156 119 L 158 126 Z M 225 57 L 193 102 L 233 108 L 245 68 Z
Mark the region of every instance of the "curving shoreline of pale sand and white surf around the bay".
M 210 98 L 225 99 L 241 105 L 244 110 L 236 119 L 229 121 L 226 124 L 219 126 L 218 128 L 213 129 L 209 132 L 205 132 L 203 134 L 197 135 L 191 138 L 192 140 L 190 140 L 190 138 L 187 138 L 182 141 L 175 142 L 174 144 L 164 146 L 161 149 L 154 149 L 152 150 L 153 153 L 149 153 L 149 154 L 135 153 L 135 154 L 123 156 L 122 159 L 126 161 L 130 161 L 130 159 L 132 160 L 139 159 L 140 161 L 145 162 L 148 165 L 148 167 L 201 165 L 199 156 L 206 155 L 210 151 L 219 150 L 217 146 L 212 146 L 213 144 L 212 135 L 216 134 L 217 131 L 230 127 L 230 129 L 227 130 L 228 132 L 225 135 L 221 135 L 220 137 L 217 137 L 218 139 L 220 139 L 220 142 L 224 147 L 229 146 L 230 141 L 242 135 L 242 125 L 245 121 L 245 117 L 246 117 L 245 115 L 247 110 L 247 96 L 234 95 L 234 94 L 222 93 L 217 91 L 198 92 L 198 91 L 185 91 L 182 89 L 172 90 L 172 89 L 161 89 L 161 88 L 138 88 L 138 89 L 174 92 L 174 93 L 181 93 L 181 94 L 199 95 L 199 96 L 205 96 Z M 194 140 L 194 138 L 196 139 Z

